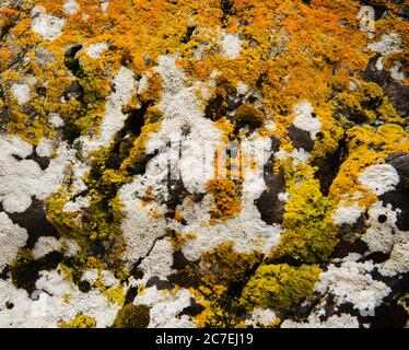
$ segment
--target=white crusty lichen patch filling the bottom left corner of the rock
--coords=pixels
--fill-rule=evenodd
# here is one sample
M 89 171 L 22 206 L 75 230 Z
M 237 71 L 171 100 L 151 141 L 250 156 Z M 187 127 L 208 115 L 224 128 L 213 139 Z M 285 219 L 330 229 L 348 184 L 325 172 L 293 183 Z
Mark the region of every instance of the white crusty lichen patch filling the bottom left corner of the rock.
M 119 305 L 109 303 L 97 289 L 82 293 L 65 279 L 61 270 L 40 271 L 36 281 L 37 300 L 25 290 L 16 289 L 10 280 L 0 280 L 1 328 L 55 328 L 60 322 L 70 322 L 78 314 L 96 320 L 97 327 L 113 324 Z M 5 303 L 14 307 L 7 308 Z

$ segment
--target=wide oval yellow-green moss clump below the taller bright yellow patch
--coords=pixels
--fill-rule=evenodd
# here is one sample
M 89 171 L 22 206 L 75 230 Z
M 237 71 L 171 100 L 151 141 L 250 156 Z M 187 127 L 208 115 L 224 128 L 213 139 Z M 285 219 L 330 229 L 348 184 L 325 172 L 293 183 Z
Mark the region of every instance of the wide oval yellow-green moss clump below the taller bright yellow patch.
M 299 305 L 313 294 L 320 272 L 317 266 L 261 265 L 244 288 L 242 302 L 273 310 Z

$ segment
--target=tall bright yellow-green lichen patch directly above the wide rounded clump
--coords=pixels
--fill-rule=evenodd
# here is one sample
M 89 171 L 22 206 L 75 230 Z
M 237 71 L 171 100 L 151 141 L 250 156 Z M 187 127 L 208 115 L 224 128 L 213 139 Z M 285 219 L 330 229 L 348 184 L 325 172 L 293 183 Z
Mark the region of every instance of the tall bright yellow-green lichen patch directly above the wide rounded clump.
M 292 167 L 285 165 L 290 196 L 282 223 L 285 231 L 271 258 L 296 264 L 327 261 L 338 242 L 330 217 L 332 202 L 322 194 L 309 165 L 301 165 L 295 172 Z

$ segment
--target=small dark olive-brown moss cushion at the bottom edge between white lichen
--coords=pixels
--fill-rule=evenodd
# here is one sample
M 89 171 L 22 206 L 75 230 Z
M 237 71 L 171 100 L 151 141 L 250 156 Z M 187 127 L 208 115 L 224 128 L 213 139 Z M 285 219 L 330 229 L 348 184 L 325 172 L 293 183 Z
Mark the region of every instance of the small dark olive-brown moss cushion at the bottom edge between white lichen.
M 150 323 L 150 308 L 147 305 L 125 305 L 117 314 L 114 328 L 147 328 Z

